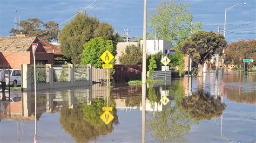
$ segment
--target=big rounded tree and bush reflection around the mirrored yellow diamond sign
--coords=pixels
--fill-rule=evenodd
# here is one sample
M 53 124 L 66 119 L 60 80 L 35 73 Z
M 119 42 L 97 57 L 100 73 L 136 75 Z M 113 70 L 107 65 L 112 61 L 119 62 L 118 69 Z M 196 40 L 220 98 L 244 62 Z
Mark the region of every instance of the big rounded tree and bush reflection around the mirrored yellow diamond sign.
M 105 125 L 99 118 L 103 113 L 102 106 L 105 102 L 103 99 L 95 99 L 92 105 L 79 106 L 73 109 L 63 108 L 60 110 L 60 124 L 77 142 L 89 142 L 96 140 L 100 135 L 111 133 L 113 131 L 112 124 L 118 124 L 117 110 L 111 99 L 110 105 L 113 108 L 111 113 L 114 119 L 112 123 Z

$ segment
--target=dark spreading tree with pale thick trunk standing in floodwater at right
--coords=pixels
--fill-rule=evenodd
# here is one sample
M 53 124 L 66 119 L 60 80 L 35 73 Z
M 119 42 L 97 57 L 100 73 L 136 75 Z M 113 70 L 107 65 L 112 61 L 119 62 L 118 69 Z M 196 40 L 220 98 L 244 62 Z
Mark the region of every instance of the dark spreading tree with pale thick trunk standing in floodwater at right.
M 227 42 L 221 34 L 214 32 L 199 31 L 193 33 L 182 42 L 179 47 L 184 54 L 190 54 L 198 64 L 198 75 L 203 75 L 203 65 L 206 59 L 211 59 L 214 54 L 220 54 Z

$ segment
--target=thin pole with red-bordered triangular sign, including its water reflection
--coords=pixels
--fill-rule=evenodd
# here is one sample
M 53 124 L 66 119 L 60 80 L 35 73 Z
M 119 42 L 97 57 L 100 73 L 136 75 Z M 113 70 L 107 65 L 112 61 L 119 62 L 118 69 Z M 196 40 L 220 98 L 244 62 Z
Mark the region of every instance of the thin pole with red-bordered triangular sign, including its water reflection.
M 38 46 L 38 44 L 31 44 L 32 46 L 32 54 L 33 54 L 33 62 L 34 62 L 34 86 L 35 86 L 35 137 L 34 140 L 37 140 L 36 134 L 37 134 L 37 95 L 36 95 L 36 48 Z

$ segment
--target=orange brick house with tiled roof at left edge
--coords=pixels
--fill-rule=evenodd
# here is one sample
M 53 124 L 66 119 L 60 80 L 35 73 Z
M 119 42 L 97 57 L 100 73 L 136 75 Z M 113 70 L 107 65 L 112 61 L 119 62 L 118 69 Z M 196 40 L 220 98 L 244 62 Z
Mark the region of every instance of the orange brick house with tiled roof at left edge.
M 32 64 L 31 44 L 37 43 L 36 63 L 52 64 L 55 56 L 61 56 L 59 47 L 37 37 L 0 37 L 0 65 L 10 65 L 12 69 L 21 69 L 22 64 Z

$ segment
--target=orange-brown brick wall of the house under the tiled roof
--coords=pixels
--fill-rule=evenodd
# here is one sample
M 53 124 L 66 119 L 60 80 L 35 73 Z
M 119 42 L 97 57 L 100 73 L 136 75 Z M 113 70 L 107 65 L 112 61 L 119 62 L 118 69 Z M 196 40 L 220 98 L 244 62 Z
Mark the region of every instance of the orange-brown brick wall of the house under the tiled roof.
M 36 60 L 45 60 L 53 63 L 53 54 L 36 52 Z M 12 69 L 21 69 L 22 64 L 32 64 L 32 52 L 0 52 L 0 65 L 10 65 Z

